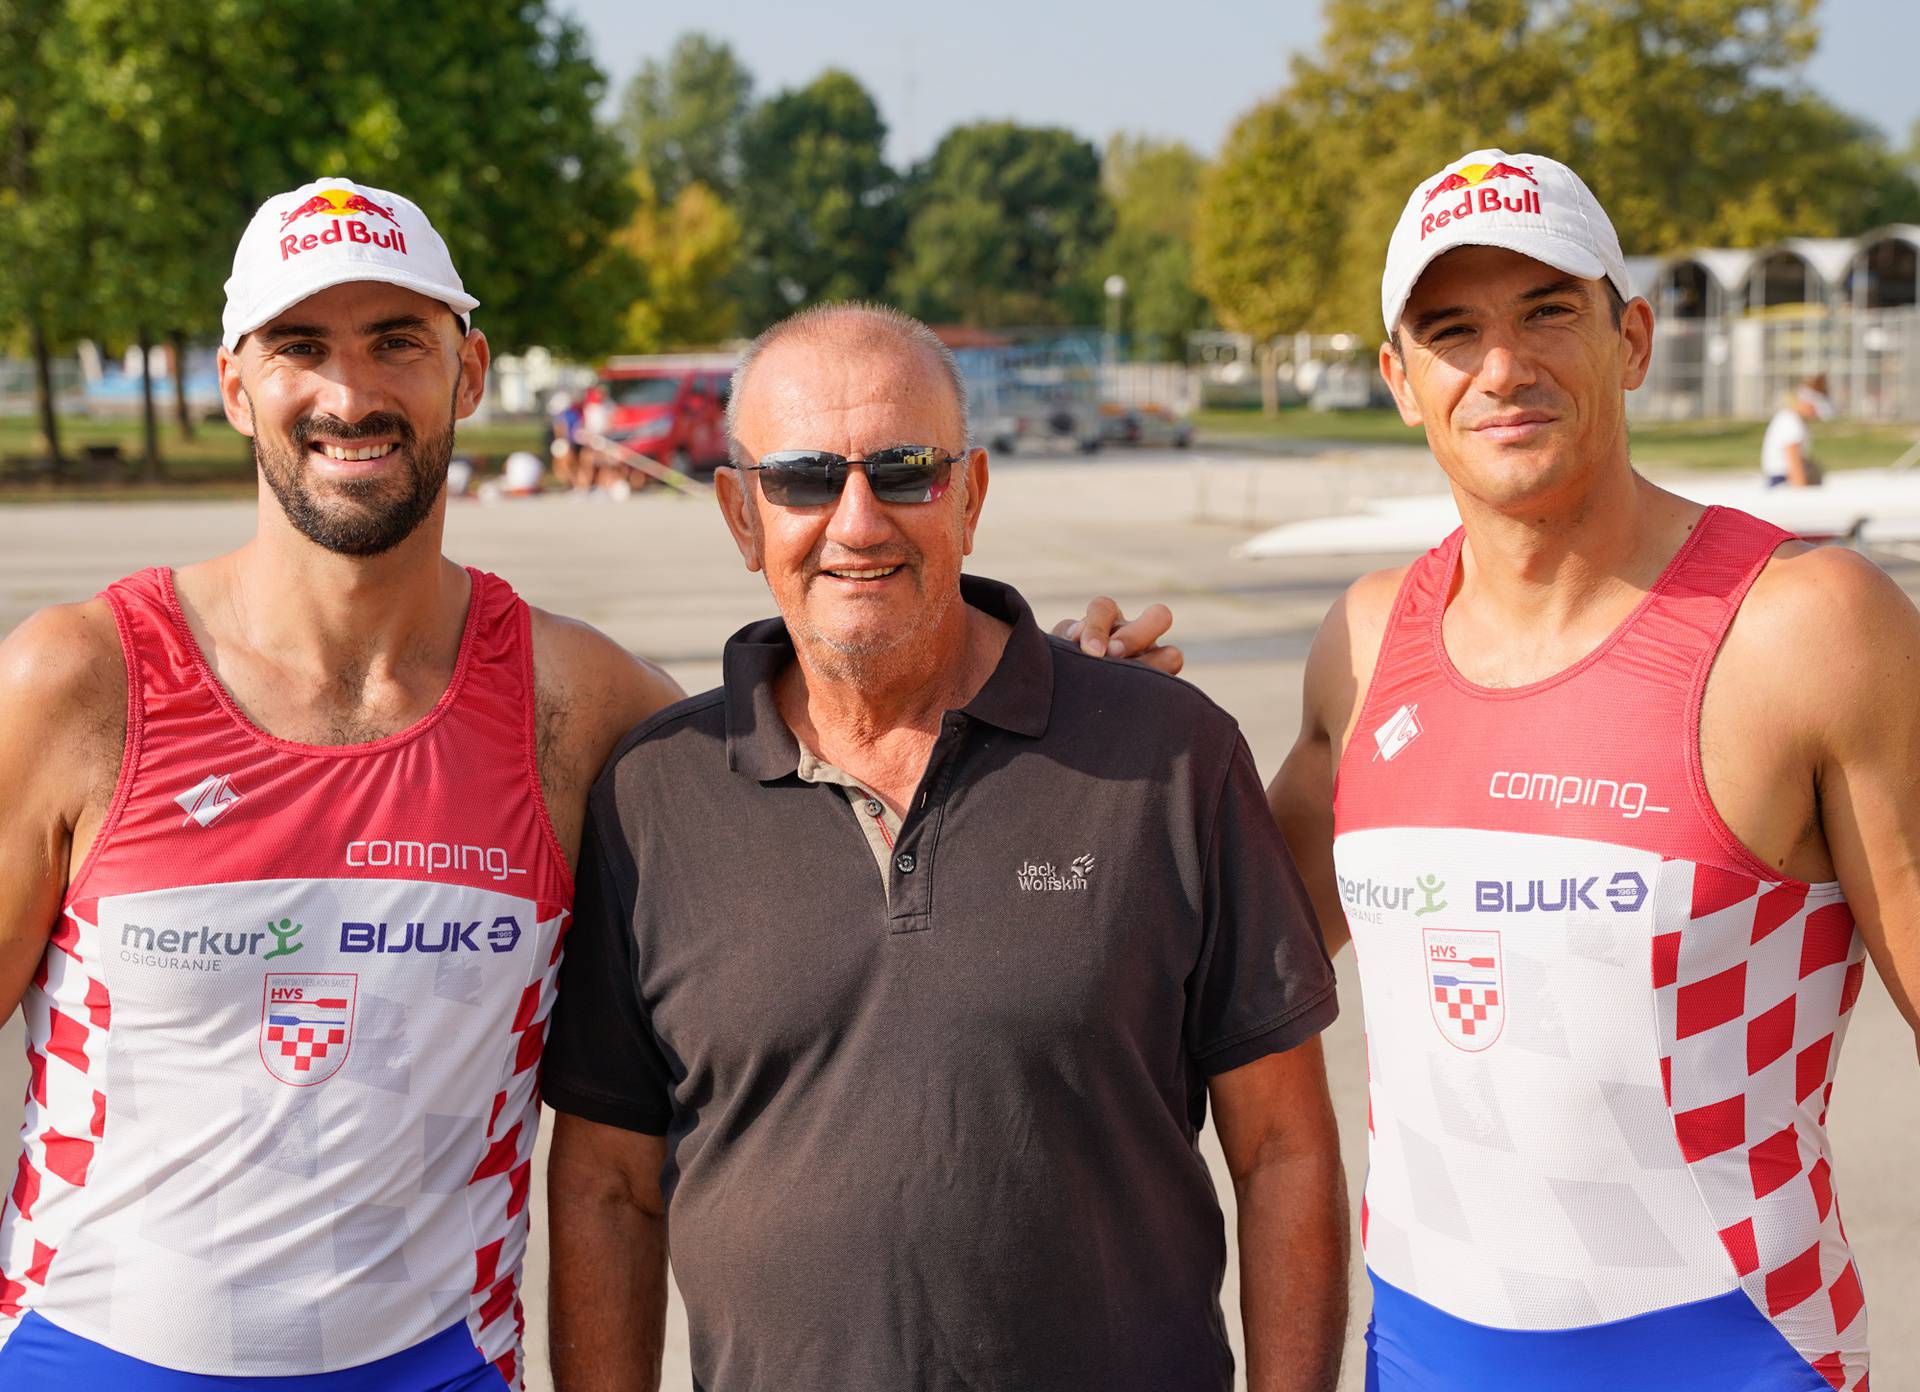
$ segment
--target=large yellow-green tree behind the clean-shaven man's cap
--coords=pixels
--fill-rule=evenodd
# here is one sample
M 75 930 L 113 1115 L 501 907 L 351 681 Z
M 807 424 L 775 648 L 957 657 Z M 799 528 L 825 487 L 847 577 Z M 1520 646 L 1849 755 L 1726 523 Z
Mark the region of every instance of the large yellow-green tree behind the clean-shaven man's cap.
M 1805 86 L 1814 4 L 1329 0 L 1284 92 L 1308 136 L 1292 173 L 1348 171 L 1308 326 L 1377 321 L 1407 194 L 1486 146 L 1572 165 L 1628 253 L 1851 234 L 1914 209 L 1885 138 Z

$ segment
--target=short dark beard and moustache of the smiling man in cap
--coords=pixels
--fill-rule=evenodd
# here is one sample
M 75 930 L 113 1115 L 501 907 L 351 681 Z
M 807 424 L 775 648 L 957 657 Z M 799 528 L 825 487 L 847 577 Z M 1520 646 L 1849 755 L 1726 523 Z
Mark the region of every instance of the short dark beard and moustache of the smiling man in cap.
M 455 376 L 455 397 L 459 390 Z M 386 480 L 367 478 L 334 484 L 330 492 L 342 501 L 326 503 L 317 497 L 307 444 L 319 436 L 334 440 L 397 436 L 407 465 L 401 495 L 382 497 L 390 488 Z M 413 422 L 392 411 L 374 411 L 351 424 L 336 417 L 303 417 L 294 422 L 288 438 L 292 451 L 282 451 L 278 445 L 263 445 L 257 430 L 253 434 L 253 465 L 280 501 L 286 520 L 303 538 L 334 555 L 376 557 L 413 536 L 440 501 L 440 492 L 447 484 L 447 465 L 453 461 L 453 411 L 449 403 L 447 428 L 426 440 L 415 434 Z

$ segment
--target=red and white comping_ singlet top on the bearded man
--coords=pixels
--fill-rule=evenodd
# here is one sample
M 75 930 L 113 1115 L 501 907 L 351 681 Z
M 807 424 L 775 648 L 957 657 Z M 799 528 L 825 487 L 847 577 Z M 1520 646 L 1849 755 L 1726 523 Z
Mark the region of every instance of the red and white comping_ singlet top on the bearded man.
M 367 745 L 234 707 L 167 570 L 106 591 L 111 812 L 27 993 L 0 1344 L 163 1369 L 357 1367 L 465 1325 L 520 1386 L 536 1066 L 572 904 L 526 605 L 472 574 L 440 705 Z

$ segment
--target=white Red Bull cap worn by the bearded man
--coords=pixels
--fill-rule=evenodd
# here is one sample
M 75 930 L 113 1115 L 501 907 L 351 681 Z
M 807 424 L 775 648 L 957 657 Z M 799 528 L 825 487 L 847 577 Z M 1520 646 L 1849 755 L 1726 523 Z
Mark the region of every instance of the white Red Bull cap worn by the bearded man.
M 467 294 L 419 205 L 351 179 L 317 179 L 259 205 L 234 250 L 221 342 L 240 346 L 275 315 L 349 280 L 384 280 L 444 301 L 467 323 Z

